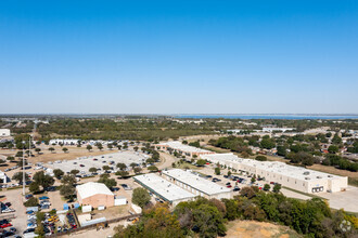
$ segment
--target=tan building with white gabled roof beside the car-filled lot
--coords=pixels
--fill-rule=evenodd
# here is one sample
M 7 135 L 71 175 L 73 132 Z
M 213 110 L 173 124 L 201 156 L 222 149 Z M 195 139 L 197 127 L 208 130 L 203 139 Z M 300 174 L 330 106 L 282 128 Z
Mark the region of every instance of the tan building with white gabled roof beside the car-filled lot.
M 90 204 L 93 208 L 114 206 L 114 194 L 102 183 L 81 184 L 76 187 L 76 190 L 78 202 L 81 206 Z

